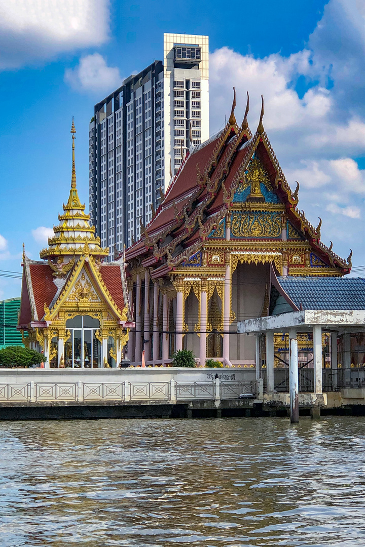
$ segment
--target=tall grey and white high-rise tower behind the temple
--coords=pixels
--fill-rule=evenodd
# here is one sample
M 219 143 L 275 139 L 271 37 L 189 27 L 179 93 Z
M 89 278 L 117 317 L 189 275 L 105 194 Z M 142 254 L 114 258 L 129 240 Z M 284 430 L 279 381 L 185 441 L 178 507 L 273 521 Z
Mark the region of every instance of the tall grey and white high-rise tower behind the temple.
M 209 138 L 208 76 L 207 36 L 164 34 L 164 61 L 95 105 L 90 216 L 109 259 L 140 237 L 182 157 Z

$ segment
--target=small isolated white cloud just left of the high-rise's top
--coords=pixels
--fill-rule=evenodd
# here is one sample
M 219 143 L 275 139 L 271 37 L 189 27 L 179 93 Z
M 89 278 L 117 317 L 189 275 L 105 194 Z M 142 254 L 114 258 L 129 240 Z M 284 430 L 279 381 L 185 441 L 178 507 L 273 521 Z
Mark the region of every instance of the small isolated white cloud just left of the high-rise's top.
M 65 72 L 65 82 L 77 91 L 109 92 L 118 88 L 122 79 L 117 67 L 108 67 L 99 53 L 86 55 L 74 69 Z

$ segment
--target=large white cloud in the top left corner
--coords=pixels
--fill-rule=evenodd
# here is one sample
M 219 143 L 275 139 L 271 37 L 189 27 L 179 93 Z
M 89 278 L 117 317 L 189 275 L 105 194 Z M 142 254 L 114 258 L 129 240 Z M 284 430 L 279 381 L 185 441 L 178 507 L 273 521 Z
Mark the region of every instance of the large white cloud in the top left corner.
M 108 7 L 108 0 L 1 2 L 0 68 L 102 44 L 109 32 Z

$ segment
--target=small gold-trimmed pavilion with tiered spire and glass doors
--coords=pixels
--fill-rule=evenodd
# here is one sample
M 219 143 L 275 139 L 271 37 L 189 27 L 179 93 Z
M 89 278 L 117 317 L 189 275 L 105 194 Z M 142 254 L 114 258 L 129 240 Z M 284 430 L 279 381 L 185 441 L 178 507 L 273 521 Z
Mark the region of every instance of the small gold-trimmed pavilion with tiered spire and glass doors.
M 51 368 L 118 366 L 132 322 L 123 261 L 103 263 L 101 248 L 76 188 L 72 121 L 71 190 L 42 260 L 23 252 L 18 328 L 23 341 L 44 352 Z

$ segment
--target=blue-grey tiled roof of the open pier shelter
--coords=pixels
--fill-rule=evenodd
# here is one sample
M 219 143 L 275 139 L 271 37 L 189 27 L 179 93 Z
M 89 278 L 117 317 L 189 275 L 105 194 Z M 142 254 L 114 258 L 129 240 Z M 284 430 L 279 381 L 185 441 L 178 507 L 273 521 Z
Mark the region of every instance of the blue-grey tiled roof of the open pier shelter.
M 362 277 L 290 277 L 277 280 L 303 310 L 365 310 Z

